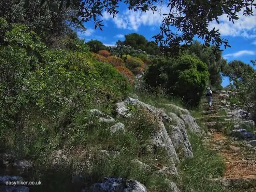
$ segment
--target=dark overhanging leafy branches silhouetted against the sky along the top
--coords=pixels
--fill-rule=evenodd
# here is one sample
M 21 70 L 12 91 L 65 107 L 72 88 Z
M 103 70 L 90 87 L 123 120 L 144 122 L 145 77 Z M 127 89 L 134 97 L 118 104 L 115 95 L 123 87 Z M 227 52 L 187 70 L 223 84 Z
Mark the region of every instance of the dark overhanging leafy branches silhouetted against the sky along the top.
M 50 0 L 41 0 L 42 6 Z M 57 3 L 58 2 L 58 3 Z M 113 17 L 118 13 L 118 4 L 121 0 L 61 0 L 55 3 L 55 7 L 59 10 L 62 7 L 77 6 L 77 15 L 73 17 L 73 22 L 81 24 L 84 21 L 89 21 L 93 18 L 95 29 L 99 27 L 102 30 L 102 21 L 98 16 L 106 11 Z M 210 46 L 210 43 L 215 44 L 215 50 L 222 50 L 224 44 L 226 48 L 228 41 L 221 38 L 218 29 L 208 29 L 211 21 L 218 21 L 218 17 L 225 14 L 230 22 L 234 23 L 239 19 L 238 13 L 243 12 L 244 16 L 253 14 L 253 6 L 256 7 L 254 0 L 169 0 L 167 4 L 162 0 L 125 0 L 124 3 L 129 10 L 133 11 L 158 11 L 156 4 L 161 4 L 169 8 L 169 13 L 163 15 L 160 32 L 156 34 L 156 43 L 160 44 L 160 48 L 165 51 L 176 53 L 180 49 L 180 43 L 185 42 L 183 46 L 187 46 L 193 41 L 195 36 L 204 40 L 203 45 Z M 179 33 L 174 33 L 170 27 L 175 26 Z

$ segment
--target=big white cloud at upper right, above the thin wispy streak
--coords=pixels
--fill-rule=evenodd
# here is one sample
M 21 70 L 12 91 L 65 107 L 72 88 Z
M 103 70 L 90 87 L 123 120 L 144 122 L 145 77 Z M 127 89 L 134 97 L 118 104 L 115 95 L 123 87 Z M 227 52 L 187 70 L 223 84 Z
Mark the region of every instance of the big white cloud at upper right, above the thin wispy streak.
M 253 9 L 255 12 L 256 10 Z M 243 16 L 243 10 L 241 10 L 238 14 L 239 19 L 234 20 L 234 24 L 232 21 L 229 21 L 227 15 L 222 15 L 218 17 L 219 25 L 216 21 L 213 21 L 209 24 L 208 29 L 212 30 L 219 29 L 219 32 L 222 36 L 241 36 L 247 39 L 256 37 L 256 15 L 253 16 Z

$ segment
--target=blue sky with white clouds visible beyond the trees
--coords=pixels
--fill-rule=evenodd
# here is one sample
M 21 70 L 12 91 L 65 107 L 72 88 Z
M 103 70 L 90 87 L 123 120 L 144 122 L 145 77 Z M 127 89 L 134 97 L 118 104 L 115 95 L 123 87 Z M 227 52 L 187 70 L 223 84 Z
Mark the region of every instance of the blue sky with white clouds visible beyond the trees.
M 119 13 L 115 18 L 106 12 L 103 12 L 103 31 L 99 28 L 94 29 L 94 22 L 88 21 L 85 23 L 87 30 L 85 32 L 78 32 L 80 38 L 85 41 L 99 40 L 106 46 L 114 46 L 117 40 L 123 41 L 125 35 L 129 33 L 139 33 L 148 41 L 154 41 L 152 36 L 159 33 L 159 26 L 162 22 L 162 14 L 168 13 L 167 6 L 159 7 L 158 11 L 134 12 L 128 10 L 125 5 L 120 5 Z M 256 11 L 256 10 L 255 10 Z M 235 20 L 233 24 L 226 15 L 219 16 L 218 25 L 216 21 L 209 24 L 209 30 L 219 29 L 222 38 L 228 39 L 231 48 L 227 47 L 223 51 L 223 57 L 228 62 L 232 60 L 241 60 L 245 63 L 251 64 L 250 60 L 256 59 L 256 15 L 243 16 L 242 12 L 238 14 L 239 19 Z M 176 30 L 174 29 L 174 32 Z M 222 86 L 228 85 L 228 78 L 223 78 Z

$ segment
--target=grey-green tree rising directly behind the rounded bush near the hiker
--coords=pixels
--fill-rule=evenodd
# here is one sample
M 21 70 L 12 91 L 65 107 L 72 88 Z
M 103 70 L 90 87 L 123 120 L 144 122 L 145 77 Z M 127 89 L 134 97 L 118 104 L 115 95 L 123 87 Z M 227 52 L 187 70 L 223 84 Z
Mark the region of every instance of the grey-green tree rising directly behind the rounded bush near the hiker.
M 222 83 L 221 71 L 226 65 L 226 60 L 222 58 L 222 52 L 214 53 L 214 46 L 203 47 L 200 42 L 196 41 L 184 51 L 188 55 L 198 57 L 207 64 L 210 73 L 209 86 L 217 88 Z

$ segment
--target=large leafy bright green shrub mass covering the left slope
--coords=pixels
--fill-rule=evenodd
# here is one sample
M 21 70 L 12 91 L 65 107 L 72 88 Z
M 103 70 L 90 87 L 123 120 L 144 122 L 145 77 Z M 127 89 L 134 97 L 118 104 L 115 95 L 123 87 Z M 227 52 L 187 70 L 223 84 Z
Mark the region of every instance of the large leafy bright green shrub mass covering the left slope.
M 61 130 L 77 114 L 96 104 L 117 102 L 130 90 L 127 78 L 81 51 L 86 47 L 50 50 L 26 26 L 8 26 L 2 30 L 0 47 L 1 149 L 14 147 L 15 131 L 29 129 L 34 122 L 38 126 L 33 127 L 33 133 L 38 134 L 32 137 L 26 132 L 23 142 L 33 146 L 38 135 L 47 138 L 48 132 L 42 129 L 48 126 L 55 127 L 65 139 Z M 40 125 L 42 118 L 48 125 Z M 48 142 L 46 139 L 44 144 L 50 145 Z

